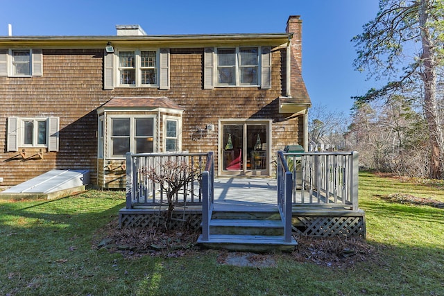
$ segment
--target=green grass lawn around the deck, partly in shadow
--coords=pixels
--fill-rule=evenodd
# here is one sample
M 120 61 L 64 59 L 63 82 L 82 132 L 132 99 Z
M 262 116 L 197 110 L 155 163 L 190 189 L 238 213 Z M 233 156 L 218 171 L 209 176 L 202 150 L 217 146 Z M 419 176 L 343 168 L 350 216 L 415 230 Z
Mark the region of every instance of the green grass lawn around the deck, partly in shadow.
M 0 295 L 444 295 L 444 209 L 389 202 L 409 193 L 444 202 L 442 186 L 361 173 L 359 207 L 377 252 L 350 268 L 275 254 L 271 268 L 221 265 L 219 252 L 128 259 L 94 242 L 123 192 L 0 201 Z

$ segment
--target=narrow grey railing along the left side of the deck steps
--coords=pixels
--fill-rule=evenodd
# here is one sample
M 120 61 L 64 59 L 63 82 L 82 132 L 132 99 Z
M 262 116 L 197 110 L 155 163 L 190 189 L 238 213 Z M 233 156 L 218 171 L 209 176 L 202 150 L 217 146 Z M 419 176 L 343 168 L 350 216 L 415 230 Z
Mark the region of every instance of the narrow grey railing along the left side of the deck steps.
M 202 173 L 202 240 L 210 239 L 210 220 L 214 206 L 214 154 L 208 153 L 207 164 Z

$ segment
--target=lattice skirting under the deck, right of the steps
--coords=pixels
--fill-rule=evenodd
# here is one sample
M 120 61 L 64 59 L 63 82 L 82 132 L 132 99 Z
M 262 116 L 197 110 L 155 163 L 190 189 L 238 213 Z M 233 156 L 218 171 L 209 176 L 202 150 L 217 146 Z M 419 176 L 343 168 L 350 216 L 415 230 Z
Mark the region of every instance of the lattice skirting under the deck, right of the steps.
M 304 236 L 359 236 L 366 238 L 366 217 L 363 211 L 346 216 L 293 213 L 293 232 Z

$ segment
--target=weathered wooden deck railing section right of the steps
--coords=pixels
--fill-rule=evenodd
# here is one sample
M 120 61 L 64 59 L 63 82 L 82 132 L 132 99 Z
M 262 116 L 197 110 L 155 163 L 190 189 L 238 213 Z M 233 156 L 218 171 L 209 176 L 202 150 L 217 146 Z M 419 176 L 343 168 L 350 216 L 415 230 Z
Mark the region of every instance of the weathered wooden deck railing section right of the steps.
M 358 209 L 358 158 L 350 153 L 284 153 L 293 175 L 293 205 Z

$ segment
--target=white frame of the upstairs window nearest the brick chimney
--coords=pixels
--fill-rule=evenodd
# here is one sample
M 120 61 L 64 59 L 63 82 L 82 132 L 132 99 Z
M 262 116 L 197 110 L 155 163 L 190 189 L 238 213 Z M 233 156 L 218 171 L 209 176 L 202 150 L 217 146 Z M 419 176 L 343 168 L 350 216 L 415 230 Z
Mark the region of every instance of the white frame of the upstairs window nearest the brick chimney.
M 220 49 L 235 49 L 235 64 L 234 64 L 234 84 L 229 83 L 219 83 L 219 68 L 223 68 L 225 66 L 219 67 L 219 50 Z M 257 49 L 257 77 L 256 77 L 256 84 L 246 84 L 241 83 L 241 68 L 242 67 L 250 67 L 251 65 L 243 65 L 241 66 L 241 49 Z M 262 48 L 261 46 L 228 46 L 228 47 L 218 47 L 216 48 L 216 58 L 215 63 L 216 67 L 214 67 L 215 71 L 215 86 L 216 87 L 260 87 L 261 84 L 261 55 L 262 55 Z

